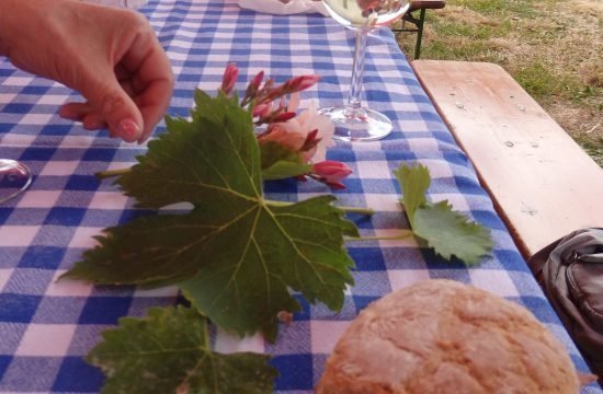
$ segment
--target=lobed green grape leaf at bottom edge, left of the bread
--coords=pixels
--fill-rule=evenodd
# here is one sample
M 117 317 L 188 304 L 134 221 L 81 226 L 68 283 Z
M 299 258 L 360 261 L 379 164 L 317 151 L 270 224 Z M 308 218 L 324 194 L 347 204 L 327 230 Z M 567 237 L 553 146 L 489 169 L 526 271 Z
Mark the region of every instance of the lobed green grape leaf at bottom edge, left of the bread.
M 102 336 L 86 358 L 106 374 L 102 393 L 272 393 L 277 375 L 268 356 L 211 351 L 194 309 L 153 308 Z

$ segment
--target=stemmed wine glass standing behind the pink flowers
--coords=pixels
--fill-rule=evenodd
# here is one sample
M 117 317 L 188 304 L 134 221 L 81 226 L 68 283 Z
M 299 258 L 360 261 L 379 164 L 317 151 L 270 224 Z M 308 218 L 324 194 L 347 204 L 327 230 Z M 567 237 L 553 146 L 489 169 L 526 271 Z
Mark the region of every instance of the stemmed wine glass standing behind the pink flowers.
M 321 108 L 335 126 L 334 139 L 374 141 L 391 131 L 391 121 L 384 114 L 361 104 L 362 76 L 368 32 L 388 25 L 409 9 L 409 0 L 322 0 L 329 14 L 343 26 L 354 30 L 356 44 L 352 66 L 350 95 L 345 105 Z

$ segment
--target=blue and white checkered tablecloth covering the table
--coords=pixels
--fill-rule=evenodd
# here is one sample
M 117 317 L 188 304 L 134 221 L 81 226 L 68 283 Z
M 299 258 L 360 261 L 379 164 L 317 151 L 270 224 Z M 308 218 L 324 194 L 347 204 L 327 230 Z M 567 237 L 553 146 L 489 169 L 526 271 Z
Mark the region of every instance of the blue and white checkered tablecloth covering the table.
M 141 10 L 156 28 L 177 76 L 169 113 L 186 116 L 197 86 L 215 92 L 227 62 L 240 68 L 239 90 L 257 72 L 283 82 L 318 73 L 318 85 L 303 94 L 320 106 L 341 103 L 349 90 L 353 35 L 320 15 L 277 16 L 240 10 L 234 0 L 153 0 Z M 217 333 L 219 351 L 253 350 L 273 355 L 276 390 L 309 393 L 340 334 L 371 301 L 426 278 L 451 278 L 489 290 L 530 309 L 567 347 L 576 367 L 588 371 L 567 332 L 541 292 L 526 264 L 479 186 L 474 169 L 455 144 L 417 81 L 389 31 L 368 39 L 365 101 L 394 120 L 395 131 L 371 143 L 340 143 L 329 158 L 354 173 L 338 190 L 342 205 L 373 207 L 356 220 L 364 234 L 387 235 L 406 222 L 399 188 L 391 174 L 401 161 L 421 162 L 433 177 L 432 200 L 448 199 L 456 209 L 492 230 L 496 248 L 478 267 L 445 263 L 412 240 L 353 243 L 355 286 L 340 313 L 310 306 L 282 327 L 274 345 L 260 337 L 237 341 Z M 86 131 L 60 119 L 60 104 L 79 99 L 52 81 L 0 62 L 0 157 L 25 162 L 35 174 L 31 188 L 0 206 L 0 392 L 93 393 L 101 372 L 82 360 L 100 333 L 125 315 L 143 316 L 153 305 L 177 302 L 174 288 L 92 287 L 56 279 L 103 228 L 148 213 L 94 172 L 130 165 L 145 147 Z M 163 127 L 157 129 L 162 132 Z M 266 185 L 275 199 L 304 199 L 330 193 L 322 184 L 276 182 Z M 585 393 L 600 392 L 591 384 Z

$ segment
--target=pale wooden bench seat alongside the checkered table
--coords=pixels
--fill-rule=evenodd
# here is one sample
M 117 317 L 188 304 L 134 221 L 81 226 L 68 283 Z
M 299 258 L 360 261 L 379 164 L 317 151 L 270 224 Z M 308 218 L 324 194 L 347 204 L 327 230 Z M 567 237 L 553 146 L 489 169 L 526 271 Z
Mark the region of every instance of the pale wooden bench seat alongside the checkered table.
M 603 169 L 501 67 L 412 67 L 525 258 L 573 230 L 603 225 Z

